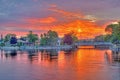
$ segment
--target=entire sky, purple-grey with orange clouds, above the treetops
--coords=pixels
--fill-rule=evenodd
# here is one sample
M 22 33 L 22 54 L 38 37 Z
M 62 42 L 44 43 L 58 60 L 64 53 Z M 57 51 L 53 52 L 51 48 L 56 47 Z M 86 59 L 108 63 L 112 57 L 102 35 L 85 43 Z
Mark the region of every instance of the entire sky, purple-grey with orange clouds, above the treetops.
M 75 32 L 79 38 L 105 34 L 105 25 L 120 20 L 120 0 L 0 0 L 0 34 L 59 36 Z

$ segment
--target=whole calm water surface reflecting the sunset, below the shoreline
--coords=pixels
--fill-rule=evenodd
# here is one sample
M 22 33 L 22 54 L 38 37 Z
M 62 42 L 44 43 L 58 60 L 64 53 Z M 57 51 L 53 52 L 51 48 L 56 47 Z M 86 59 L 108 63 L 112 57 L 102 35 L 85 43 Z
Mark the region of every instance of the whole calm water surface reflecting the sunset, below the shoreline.
M 120 63 L 110 50 L 0 51 L 0 80 L 120 80 Z

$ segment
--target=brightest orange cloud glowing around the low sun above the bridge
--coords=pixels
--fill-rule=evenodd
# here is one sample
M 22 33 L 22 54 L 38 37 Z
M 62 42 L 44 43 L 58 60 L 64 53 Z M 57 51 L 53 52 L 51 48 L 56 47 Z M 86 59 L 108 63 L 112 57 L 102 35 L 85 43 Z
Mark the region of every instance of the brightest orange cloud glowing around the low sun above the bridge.
M 56 25 L 51 29 L 57 31 L 60 36 L 69 32 L 74 32 L 80 39 L 94 38 L 97 35 L 105 33 L 104 27 L 83 20 L 75 20 L 63 25 Z

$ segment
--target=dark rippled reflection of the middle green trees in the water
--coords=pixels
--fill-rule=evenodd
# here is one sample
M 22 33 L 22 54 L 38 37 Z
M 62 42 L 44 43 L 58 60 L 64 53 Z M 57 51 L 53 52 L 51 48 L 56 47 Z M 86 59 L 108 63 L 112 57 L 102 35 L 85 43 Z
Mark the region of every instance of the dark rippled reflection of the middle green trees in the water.
M 57 50 L 29 50 L 27 51 L 28 53 L 28 58 L 31 62 L 36 61 L 36 60 L 48 60 L 51 61 L 53 59 L 58 58 L 58 51 Z

